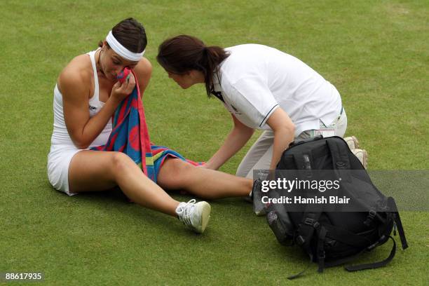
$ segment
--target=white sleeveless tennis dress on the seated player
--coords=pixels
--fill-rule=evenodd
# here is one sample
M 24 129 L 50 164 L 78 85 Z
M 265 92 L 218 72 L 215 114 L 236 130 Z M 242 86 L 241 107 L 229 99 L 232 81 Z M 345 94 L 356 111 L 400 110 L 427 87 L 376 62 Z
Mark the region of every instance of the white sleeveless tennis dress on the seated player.
M 95 52 L 88 53 L 91 63 L 93 64 L 94 71 L 94 95 L 89 100 L 89 112 L 90 117 L 95 116 L 100 109 L 103 107 L 104 102 L 99 100 L 99 88 L 98 88 L 98 77 L 97 68 L 95 66 Z M 100 146 L 106 144 L 107 139 L 111 133 L 111 121 L 107 123 L 100 135 L 90 144 L 88 149 L 78 149 L 73 141 L 71 141 L 69 132 L 64 122 L 64 112 L 62 106 L 62 94 L 58 90 L 57 85 L 54 89 L 53 99 L 53 133 L 50 139 L 50 152 L 48 154 L 48 179 L 50 184 L 58 191 L 63 191 L 69 196 L 73 196 L 76 193 L 69 191 L 69 164 L 71 158 L 81 151 L 88 150 L 91 147 Z

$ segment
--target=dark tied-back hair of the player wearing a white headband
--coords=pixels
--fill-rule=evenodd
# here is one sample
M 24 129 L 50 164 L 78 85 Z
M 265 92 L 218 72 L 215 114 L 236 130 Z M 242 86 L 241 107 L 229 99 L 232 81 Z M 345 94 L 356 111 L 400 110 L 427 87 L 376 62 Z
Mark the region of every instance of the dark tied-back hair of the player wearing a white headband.
M 118 22 L 111 29 L 111 34 L 114 35 L 122 46 L 128 48 L 132 53 L 142 53 L 147 46 L 146 31 L 144 31 L 143 25 L 135 20 L 135 18 L 127 18 Z M 102 41 L 98 43 L 98 46 L 102 46 Z

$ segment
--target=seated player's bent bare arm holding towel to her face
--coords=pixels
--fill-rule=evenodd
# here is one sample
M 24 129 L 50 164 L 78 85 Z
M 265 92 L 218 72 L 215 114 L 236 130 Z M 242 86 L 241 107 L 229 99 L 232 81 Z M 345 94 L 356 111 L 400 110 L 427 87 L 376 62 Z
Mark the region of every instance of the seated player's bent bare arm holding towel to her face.
M 61 86 L 64 121 L 73 143 L 79 149 L 86 149 L 100 135 L 118 104 L 127 97 L 135 86 L 134 77 L 123 84 L 117 82 L 111 95 L 100 112 L 90 118 L 89 114 L 89 81 L 82 71 L 65 69 L 58 82 Z

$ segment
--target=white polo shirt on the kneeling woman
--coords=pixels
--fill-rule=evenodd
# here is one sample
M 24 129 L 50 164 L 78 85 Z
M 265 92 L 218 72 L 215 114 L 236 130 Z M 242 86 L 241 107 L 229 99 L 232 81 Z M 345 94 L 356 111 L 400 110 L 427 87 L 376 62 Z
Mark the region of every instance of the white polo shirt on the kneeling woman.
M 336 88 L 301 60 L 275 48 L 245 44 L 226 48 L 229 57 L 214 74 L 214 92 L 250 128 L 270 130 L 279 106 L 295 124 L 295 137 L 329 125 L 341 112 Z

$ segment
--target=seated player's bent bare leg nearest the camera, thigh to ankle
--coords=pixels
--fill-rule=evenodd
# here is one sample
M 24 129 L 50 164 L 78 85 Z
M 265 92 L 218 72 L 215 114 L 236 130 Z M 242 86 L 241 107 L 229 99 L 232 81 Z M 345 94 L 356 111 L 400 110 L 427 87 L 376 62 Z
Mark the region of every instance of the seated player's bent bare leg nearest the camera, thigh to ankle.
M 69 166 L 72 192 L 105 191 L 119 186 L 135 203 L 176 216 L 177 200 L 151 181 L 130 157 L 119 152 L 80 151 Z

